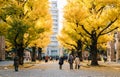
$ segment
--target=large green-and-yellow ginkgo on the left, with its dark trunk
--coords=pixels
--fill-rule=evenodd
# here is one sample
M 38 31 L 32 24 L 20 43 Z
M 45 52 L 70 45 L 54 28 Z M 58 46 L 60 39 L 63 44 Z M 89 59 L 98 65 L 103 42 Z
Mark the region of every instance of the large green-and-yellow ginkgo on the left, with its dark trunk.
M 21 65 L 24 48 L 40 39 L 41 33 L 51 34 L 48 0 L 1 0 L 0 19 L 7 25 L 6 41 L 16 49 Z

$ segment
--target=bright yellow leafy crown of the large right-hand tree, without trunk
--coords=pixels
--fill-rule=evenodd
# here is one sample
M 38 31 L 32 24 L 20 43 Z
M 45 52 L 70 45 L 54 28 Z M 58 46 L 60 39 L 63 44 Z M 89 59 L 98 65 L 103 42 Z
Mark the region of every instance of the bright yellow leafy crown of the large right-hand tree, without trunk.
M 113 39 L 108 33 L 120 27 L 120 0 L 67 0 L 64 18 L 62 35 L 69 34 L 69 38 L 75 36 L 83 42 L 86 39 L 88 43 L 94 41 L 91 39 L 94 36 L 105 47 Z

